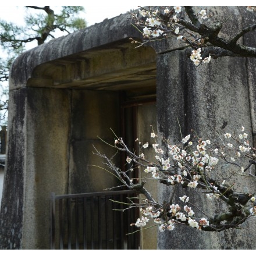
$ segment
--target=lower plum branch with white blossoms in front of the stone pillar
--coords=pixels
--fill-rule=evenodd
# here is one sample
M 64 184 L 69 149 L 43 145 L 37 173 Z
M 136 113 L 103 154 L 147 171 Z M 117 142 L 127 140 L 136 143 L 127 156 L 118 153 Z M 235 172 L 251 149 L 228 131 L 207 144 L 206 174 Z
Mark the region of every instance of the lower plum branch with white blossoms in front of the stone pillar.
M 133 184 L 133 179 L 129 177 L 131 168 L 128 168 L 127 171 L 122 171 L 106 155 L 98 151 L 94 154 L 104 159 L 105 165 L 110 171 L 113 171 L 114 175 L 122 183 L 120 186 L 126 186 L 127 189 L 134 190 L 136 193 L 145 196 L 145 198 L 141 199 L 141 203 L 134 202 L 132 198 L 129 203 L 126 203 L 128 205 L 126 209 L 140 207 L 141 211 L 141 217 L 131 225 L 144 228 L 149 221 L 148 218 L 152 218 L 161 232 L 165 230 L 171 231 L 176 225 L 187 225 L 199 230 L 220 232 L 229 228 L 237 228 L 248 218 L 256 215 L 253 193 L 237 192 L 233 189 L 234 184 L 226 184 L 226 180 L 222 178 L 214 179 L 212 176 L 212 173 L 216 177 L 221 175 L 217 167 L 220 160 L 229 165 L 237 162 L 237 165 L 234 166 L 237 166 L 239 170 L 231 172 L 230 177 L 237 175 L 238 171 L 241 173 L 250 169 L 250 166 L 256 163 L 255 148 L 250 146 L 247 136 L 248 134 L 244 133 L 244 127 L 242 126 L 241 134 L 238 136 L 235 133 L 223 134 L 222 144 L 214 144 L 209 140 L 202 140 L 197 135 L 191 137 L 191 134 L 182 138 L 180 145 L 172 145 L 168 140 L 163 139 L 168 150 L 166 152 L 157 144 L 157 135 L 152 130 L 151 138 L 155 142 L 152 144 L 152 148 L 157 155 L 151 161 L 147 160 L 143 153 L 138 156 L 136 152 L 131 152 L 123 139 L 116 137 L 112 147 L 127 154 L 127 165 L 132 165 L 132 169 L 145 168 L 144 172 L 152 175 L 152 179 L 159 180 L 167 186 L 175 186 L 169 200 L 167 199 L 163 202 L 156 201 L 150 191 L 145 189 L 145 180 Z M 197 139 L 197 145 L 193 144 L 192 140 L 195 139 Z M 136 141 L 138 142 L 137 139 Z M 143 150 L 148 148 L 150 143 L 147 142 L 141 145 L 141 150 Z M 214 157 L 214 155 L 217 157 Z M 229 161 L 229 158 L 232 158 L 232 161 Z M 249 166 L 245 169 L 241 168 L 243 166 L 241 162 L 244 158 L 250 159 Z M 209 216 L 201 207 L 189 202 L 187 195 L 179 197 L 182 203 L 178 204 L 174 202 L 174 195 L 177 193 L 176 188 L 178 186 L 189 188 L 191 191 L 201 189 L 209 200 L 219 199 L 225 202 L 227 210 L 214 216 Z M 184 204 L 183 207 L 182 204 Z M 196 208 L 206 218 L 198 217 L 188 204 Z

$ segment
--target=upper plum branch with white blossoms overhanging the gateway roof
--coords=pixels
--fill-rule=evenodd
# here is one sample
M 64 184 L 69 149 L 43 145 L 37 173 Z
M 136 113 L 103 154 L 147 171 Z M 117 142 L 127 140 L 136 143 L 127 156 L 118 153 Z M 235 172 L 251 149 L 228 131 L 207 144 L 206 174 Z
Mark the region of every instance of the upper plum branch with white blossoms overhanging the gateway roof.
M 207 8 L 198 13 L 192 6 L 184 6 L 184 10 L 188 19 L 181 16 L 181 6 L 167 6 L 160 10 L 141 8 L 139 13 L 131 12 L 130 18 L 134 26 L 137 26 L 144 37 L 144 42 L 132 42 L 141 46 L 151 41 L 176 36 L 177 40 L 193 48 L 190 59 L 195 66 L 210 62 L 211 57 L 256 57 L 256 48 L 237 43 L 244 34 L 255 30 L 256 24 L 246 27 L 230 40 L 226 40 L 219 36 L 223 22 L 212 22 L 208 25 L 204 23 L 204 20 L 211 20 Z M 247 10 L 255 12 L 255 6 L 248 6 Z

